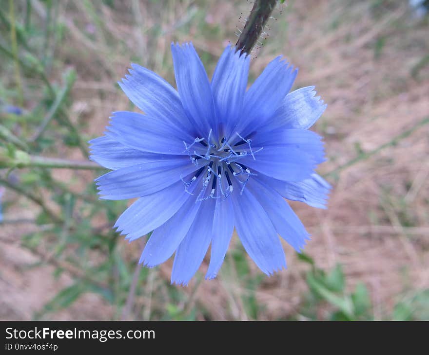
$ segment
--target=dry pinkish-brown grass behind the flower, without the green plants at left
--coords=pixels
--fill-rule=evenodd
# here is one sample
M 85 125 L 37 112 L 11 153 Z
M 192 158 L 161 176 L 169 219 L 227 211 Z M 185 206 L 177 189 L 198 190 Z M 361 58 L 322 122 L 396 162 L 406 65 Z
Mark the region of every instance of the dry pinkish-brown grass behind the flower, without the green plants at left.
M 129 107 L 115 82 L 130 62 L 148 67 L 174 84 L 170 43 L 192 40 L 211 76 L 224 45 L 236 40 L 235 26 L 242 27 L 239 17 L 246 16 L 251 7 L 246 1 L 124 0 L 114 1 L 120 11 L 99 3 L 94 12 L 95 7 L 88 3 L 60 2 L 65 40 L 53 49 L 56 60 L 78 72 L 70 113 L 73 120 L 86 124 L 88 137 L 103 132 L 111 111 Z M 44 7 L 39 1 L 33 4 L 43 21 Z M 406 1 L 288 1 L 273 17 L 268 38 L 253 54 L 251 80 L 283 53 L 300 68 L 295 87 L 316 86 L 328 103 L 313 127 L 326 142 L 328 161 L 320 168 L 322 174 L 360 151 L 390 142 L 428 116 L 429 67 L 419 70 L 429 53 L 428 23 L 413 17 Z M 53 66 L 50 76 L 59 75 Z M 78 149 L 66 146 L 59 146 L 58 153 L 84 158 Z M 425 125 L 369 159 L 331 175 L 328 210 L 292 203 L 312 233 L 306 253 L 324 269 L 342 264 L 348 289 L 364 282 L 375 319 L 391 312 L 413 290 L 429 287 L 428 154 L 429 125 Z M 56 171 L 55 176 L 70 181 L 75 191 L 79 191 L 80 181 L 92 179 L 90 173 L 65 170 Z M 31 205 L 22 206 L 19 213 L 31 217 Z M 71 283 L 67 273 L 59 279 L 52 277 L 58 261 L 46 254 L 40 259 L 20 247 L 19 236 L 32 228 L 5 225 L 0 229 L 1 319 L 31 319 L 61 287 Z M 121 241 L 119 248 L 129 260 L 138 258 L 137 243 Z M 264 278 L 256 290 L 264 308 L 260 319 L 296 314 L 307 292 L 303 274 L 309 266 L 297 261 L 286 244 L 285 250 L 288 270 Z M 40 260 L 49 263 L 29 267 Z M 169 278 L 171 266 L 170 260 L 154 269 L 144 287 L 156 289 L 157 283 Z M 252 267 L 251 272 L 260 271 Z M 247 319 L 240 297 L 247 290 L 236 277 L 221 272 L 215 281 L 203 281 L 197 288 L 191 284 L 184 291 L 189 293 L 186 306 L 202 307 L 215 320 Z M 140 297 L 135 302 L 156 304 L 161 300 Z M 85 294 L 49 318 L 112 319 L 117 312 L 101 297 Z M 320 312 L 322 319 L 327 310 Z M 125 318 L 138 317 L 126 314 Z

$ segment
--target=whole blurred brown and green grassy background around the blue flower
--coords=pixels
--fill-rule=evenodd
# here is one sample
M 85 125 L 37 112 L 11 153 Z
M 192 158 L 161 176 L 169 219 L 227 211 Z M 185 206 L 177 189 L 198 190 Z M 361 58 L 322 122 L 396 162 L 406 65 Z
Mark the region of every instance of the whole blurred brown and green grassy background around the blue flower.
M 117 85 L 130 63 L 175 85 L 170 43 L 192 40 L 211 77 L 252 5 L 0 0 L 1 320 L 429 320 L 428 1 L 274 10 L 250 83 L 284 54 L 294 89 L 316 86 L 333 189 L 327 210 L 292 203 L 312 240 L 300 255 L 284 244 L 272 277 L 234 236 L 216 280 L 207 257 L 171 285 L 172 259 L 137 266 L 145 238 L 112 230 L 131 201 L 98 200 L 103 170 L 10 168 L 21 151 L 88 161 L 110 113 L 135 109 Z

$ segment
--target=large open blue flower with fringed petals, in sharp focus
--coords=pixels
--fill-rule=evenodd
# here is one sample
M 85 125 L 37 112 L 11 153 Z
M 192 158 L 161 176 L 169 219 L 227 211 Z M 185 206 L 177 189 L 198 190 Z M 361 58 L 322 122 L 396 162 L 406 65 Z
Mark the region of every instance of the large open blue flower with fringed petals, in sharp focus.
M 91 159 L 113 171 L 101 198 L 138 197 L 115 227 L 129 241 L 153 231 L 140 263 L 176 251 L 172 283 L 188 284 L 211 245 L 214 278 L 234 227 L 266 274 L 286 268 L 278 235 L 300 251 L 309 239 L 284 198 L 324 208 L 330 186 L 314 173 L 321 137 L 307 130 L 325 110 L 314 87 L 289 93 L 297 70 L 275 58 L 246 91 L 247 55 L 228 46 L 210 82 L 191 43 L 172 44 L 177 91 L 132 64 L 119 82 L 144 114 L 114 112 Z

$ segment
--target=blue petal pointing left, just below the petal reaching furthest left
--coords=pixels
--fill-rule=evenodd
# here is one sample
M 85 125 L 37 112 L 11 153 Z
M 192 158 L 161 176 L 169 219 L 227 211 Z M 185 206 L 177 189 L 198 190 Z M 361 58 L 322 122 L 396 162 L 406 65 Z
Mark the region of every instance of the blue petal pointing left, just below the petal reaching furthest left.
M 151 195 L 198 169 L 187 157 L 137 164 L 111 171 L 96 179 L 99 195 L 108 200 Z

